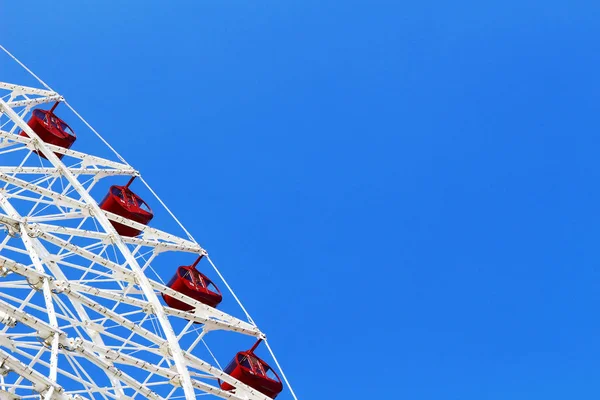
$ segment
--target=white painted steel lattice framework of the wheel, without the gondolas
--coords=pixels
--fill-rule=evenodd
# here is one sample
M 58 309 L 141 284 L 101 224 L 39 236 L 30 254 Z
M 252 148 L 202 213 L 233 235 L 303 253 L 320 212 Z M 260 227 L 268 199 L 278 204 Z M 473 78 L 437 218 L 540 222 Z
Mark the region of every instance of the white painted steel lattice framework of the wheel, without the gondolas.
M 56 101 L 64 99 L 47 86 L 0 82 L 0 399 L 267 400 L 223 373 L 205 342 L 227 331 L 250 344 L 264 339 L 246 310 L 244 321 L 152 274 L 152 264 L 173 253 L 212 264 L 207 252 L 189 234 L 101 210 L 90 193 L 103 179 L 139 172 L 118 154 L 120 161 L 97 157 L 77 142 L 66 150 L 29 128 L 32 109 Z M 142 234 L 121 237 L 110 221 Z M 194 310 L 167 307 L 161 293 Z M 236 390 L 221 390 L 219 379 Z

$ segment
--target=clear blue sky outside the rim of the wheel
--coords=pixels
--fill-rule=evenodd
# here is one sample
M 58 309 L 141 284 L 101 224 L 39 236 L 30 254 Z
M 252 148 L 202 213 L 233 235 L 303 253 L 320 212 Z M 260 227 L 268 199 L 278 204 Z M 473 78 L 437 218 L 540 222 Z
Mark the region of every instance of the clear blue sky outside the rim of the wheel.
M 2 44 L 210 251 L 301 399 L 600 395 L 597 2 L 0 12 Z

